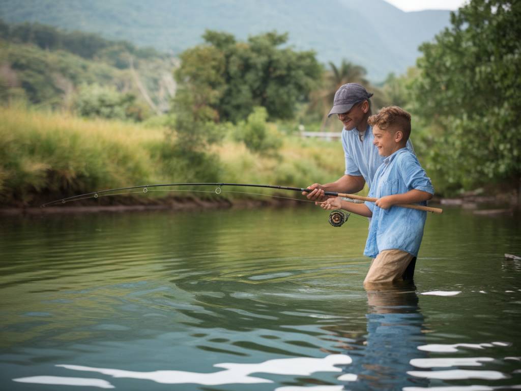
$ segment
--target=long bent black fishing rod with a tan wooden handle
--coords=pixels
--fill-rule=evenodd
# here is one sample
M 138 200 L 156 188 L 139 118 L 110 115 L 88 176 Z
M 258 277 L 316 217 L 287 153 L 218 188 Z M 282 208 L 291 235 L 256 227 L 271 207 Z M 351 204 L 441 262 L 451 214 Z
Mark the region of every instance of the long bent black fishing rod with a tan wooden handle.
M 277 190 L 291 190 L 291 191 L 300 191 L 300 192 L 311 192 L 312 189 L 307 188 L 298 188 L 298 187 L 287 187 L 287 186 L 274 186 L 274 185 L 255 185 L 255 184 L 230 184 L 230 183 L 224 183 L 224 182 L 201 182 L 201 183 L 177 183 L 177 184 L 158 184 L 158 185 L 140 185 L 140 186 L 130 186 L 130 187 L 120 187 L 120 188 L 114 188 L 114 189 L 106 189 L 106 190 L 98 190 L 93 191 L 90 193 L 84 193 L 79 194 L 78 196 L 72 196 L 67 198 L 62 198 L 59 200 L 47 202 L 41 205 L 41 207 L 45 207 L 48 205 L 55 205 L 55 204 L 65 204 L 67 202 L 72 201 L 78 201 L 83 199 L 89 199 L 89 198 L 98 198 L 101 196 L 109 196 L 109 195 L 122 195 L 121 193 L 117 194 L 111 194 L 118 191 L 127 191 L 127 190 L 137 190 L 141 189 L 143 193 L 148 192 L 149 188 L 162 188 L 162 187 L 172 187 L 172 186 L 216 186 L 215 193 L 220 194 L 222 191 L 222 187 L 224 186 L 236 186 L 236 187 L 255 187 L 255 188 L 267 188 L 267 189 L 277 189 Z M 373 197 L 363 197 L 363 196 L 357 196 L 356 194 L 348 194 L 348 193 L 338 193 L 336 191 L 325 191 L 324 192 L 326 196 L 333 196 L 333 197 L 343 197 L 343 198 L 349 198 L 352 200 L 360 200 L 360 201 L 369 201 L 369 202 L 375 202 L 377 198 Z M 410 209 L 416 209 L 420 211 L 426 211 L 426 212 L 432 212 L 432 213 L 442 213 L 443 210 L 437 207 L 431 207 L 431 206 L 424 206 L 424 205 L 416 205 L 416 204 L 396 204 L 393 206 L 400 206 L 400 207 L 406 207 Z

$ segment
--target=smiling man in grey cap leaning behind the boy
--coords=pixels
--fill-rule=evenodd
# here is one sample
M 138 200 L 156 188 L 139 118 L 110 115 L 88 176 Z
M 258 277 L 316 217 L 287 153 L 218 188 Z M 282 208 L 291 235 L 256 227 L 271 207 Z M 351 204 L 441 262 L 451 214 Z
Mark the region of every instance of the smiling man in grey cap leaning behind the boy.
M 344 126 L 342 146 L 345 172 L 341 178 L 329 184 L 308 186 L 308 189 L 313 191 L 302 193 L 308 199 L 323 201 L 327 198 L 324 191 L 356 193 L 361 191 L 366 183 L 371 187 L 376 169 L 384 159 L 378 154 L 378 148 L 373 143 L 373 129 L 367 124 L 371 114 L 371 96 L 373 94 L 357 83 L 344 84 L 334 94 L 333 107 L 328 117 L 337 114 Z M 413 151 L 410 141 L 407 142 L 407 148 Z

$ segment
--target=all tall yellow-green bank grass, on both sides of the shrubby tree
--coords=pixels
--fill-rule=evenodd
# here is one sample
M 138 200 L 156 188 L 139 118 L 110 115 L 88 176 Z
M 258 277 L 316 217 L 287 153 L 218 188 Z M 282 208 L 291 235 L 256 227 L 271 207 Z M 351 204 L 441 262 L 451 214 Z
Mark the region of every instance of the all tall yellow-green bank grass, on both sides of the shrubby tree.
M 189 164 L 177 165 L 165 157 L 172 141 L 165 138 L 164 128 L 24 106 L 0 107 L 0 118 L 3 205 L 36 205 L 83 192 L 189 177 L 183 172 Z M 305 187 L 335 180 L 344 170 L 342 148 L 336 142 L 285 137 L 278 153 L 266 156 L 231 137 L 226 140 L 208 151 L 214 154 L 216 181 Z

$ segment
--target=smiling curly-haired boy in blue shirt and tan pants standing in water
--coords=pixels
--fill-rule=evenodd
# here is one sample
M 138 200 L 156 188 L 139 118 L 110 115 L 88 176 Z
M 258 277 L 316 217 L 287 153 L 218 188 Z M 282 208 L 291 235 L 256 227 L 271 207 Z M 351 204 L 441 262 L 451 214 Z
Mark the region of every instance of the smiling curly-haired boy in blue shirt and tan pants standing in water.
M 345 209 L 372 217 L 364 255 L 374 258 L 364 285 L 390 283 L 402 278 L 418 254 L 427 213 L 395 204 L 426 204 L 434 189 L 416 156 L 405 145 L 411 134 L 411 115 L 400 107 L 389 106 L 368 119 L 373 126 L 374 144 L 386 157 L 378 167 L 369 197 L 376 202 L 353 204 L 330 198 L 322 208 Z

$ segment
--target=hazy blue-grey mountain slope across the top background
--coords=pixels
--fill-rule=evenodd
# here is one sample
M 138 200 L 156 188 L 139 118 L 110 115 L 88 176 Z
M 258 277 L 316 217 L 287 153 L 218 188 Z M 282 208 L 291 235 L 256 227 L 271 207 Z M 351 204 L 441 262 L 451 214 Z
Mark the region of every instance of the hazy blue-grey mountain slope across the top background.
M 2 0 L 0 18 L 98 33 L 179 54 L 202 42 L 205 29 L 239 39 L 289 32 L 297 50 L 321 62 L 342 58 L 383 80 L 415 64 L 418 46 L 449 25 L 450 11 L 405 13 L 383 0 Z

